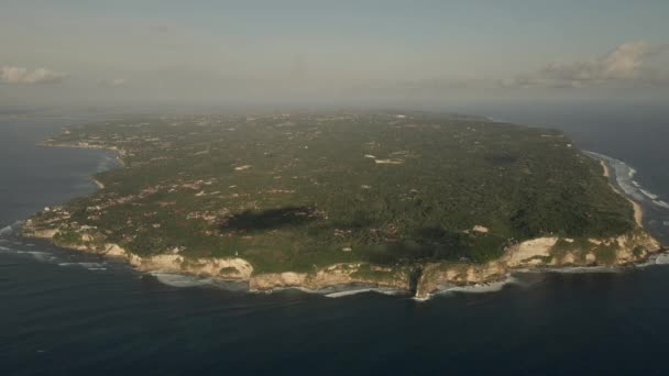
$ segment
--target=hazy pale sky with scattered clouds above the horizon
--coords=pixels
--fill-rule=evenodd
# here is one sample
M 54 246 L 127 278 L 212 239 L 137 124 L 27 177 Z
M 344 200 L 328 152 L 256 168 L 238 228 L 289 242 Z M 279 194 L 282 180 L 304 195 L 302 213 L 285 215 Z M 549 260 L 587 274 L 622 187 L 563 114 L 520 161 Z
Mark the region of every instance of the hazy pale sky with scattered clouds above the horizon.
M 669 1 L 2 0 L 0 101 L 669 98 Z

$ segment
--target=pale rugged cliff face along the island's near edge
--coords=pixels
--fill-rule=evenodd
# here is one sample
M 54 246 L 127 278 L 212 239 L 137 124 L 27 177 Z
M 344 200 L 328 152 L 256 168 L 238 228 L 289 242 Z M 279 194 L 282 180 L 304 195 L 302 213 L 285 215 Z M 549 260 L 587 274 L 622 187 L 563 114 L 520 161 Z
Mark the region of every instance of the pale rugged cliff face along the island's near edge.
M 55 229 L 26 229 L 26 236 L 53 239 Z M 94 236 L 95 237 L 95 236 Z M 92 239 L 92 237 L 91 237 Z M 84 237 L 83 237 L 84 240 Z M 558 242 L 561 250 L 556 251 Z M 304 287 L 317 289 L 328 286 L 361 283 L 379 287 L 410 289 L 410 272 L 369 267 L 368 274 L 359 273 L 362 263 L 336 264 L 310 273 L 254 274 L 253 266 L 240 257 L 188 258 L 179 254 L 139 256 L 118 244 L 107 243 L 94 247 L 91 242 L 69 245 L 70 248 L 122 257 L 143 272 L 171 272 L 207 275 L 223 279 L 248 280 L 251 289 L 267 290 L 277 287 Z M 603 247 L 606 252 L 602 252 Z M 508 247 L 498 259 L 485 264 L 432 263 L 424 265 L 417 281 L 416 296 L 426 298 L 440 285 L 473 285 L 504 279 L 515 268 L 559 267 L 567 265 L 625 265 L 644 261 L 649 253 L 659 251 L 660 243 L 643 229 L 608 239 L 591 239 L 579 244 L 572 239 L 556 236 L 538 237 Z M 369 272 L 380 272 L 380 275 Z M 381 276 L 381 277 L 379 277 Z

